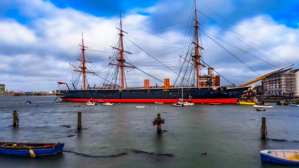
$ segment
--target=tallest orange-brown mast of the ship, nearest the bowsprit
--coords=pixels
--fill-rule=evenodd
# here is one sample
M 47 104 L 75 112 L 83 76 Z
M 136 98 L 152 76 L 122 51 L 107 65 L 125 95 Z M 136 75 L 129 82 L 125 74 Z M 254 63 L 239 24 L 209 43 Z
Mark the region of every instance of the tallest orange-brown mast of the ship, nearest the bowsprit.
M 199 82 L 199 77 L 200 77 L 200 65 L 205 67 L 205 65 L 203 65 L 202 63 L 200 63 L 200 50 L 203 50 L 203 48 L 201 46 L 199 46 L 199 35 L 198 35 L 198 28 L 199 28 L 199 22 L 197 21 L 197 10 L 196 10 L 196 2 L 194 1 L 195 4 L 195 38 L 196 41 L 193 42 L 193 44 L 195 45 L 195 54 L 192 55 L 192 60 L 194 62 L 194 66 L 195 66 L 195 71 L 196 71 L 196 82 L 197 82 L 197 87 L 200 86 L 200 82 Z

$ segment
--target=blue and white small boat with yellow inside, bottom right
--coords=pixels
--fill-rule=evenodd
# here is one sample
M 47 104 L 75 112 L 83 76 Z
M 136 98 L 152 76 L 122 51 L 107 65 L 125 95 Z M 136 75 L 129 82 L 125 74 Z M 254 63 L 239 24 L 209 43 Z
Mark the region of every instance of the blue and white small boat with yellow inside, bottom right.
M 299 150 L 263 150 L 262 162 L 299 166 Z

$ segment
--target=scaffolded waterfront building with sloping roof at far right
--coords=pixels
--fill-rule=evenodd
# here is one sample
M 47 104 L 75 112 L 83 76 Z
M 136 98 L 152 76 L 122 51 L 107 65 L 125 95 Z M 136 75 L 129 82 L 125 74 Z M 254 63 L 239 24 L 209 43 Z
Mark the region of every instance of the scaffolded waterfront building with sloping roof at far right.
M 298 96 L 299 69 L 285 69 L 262 81 L 263 95 Z

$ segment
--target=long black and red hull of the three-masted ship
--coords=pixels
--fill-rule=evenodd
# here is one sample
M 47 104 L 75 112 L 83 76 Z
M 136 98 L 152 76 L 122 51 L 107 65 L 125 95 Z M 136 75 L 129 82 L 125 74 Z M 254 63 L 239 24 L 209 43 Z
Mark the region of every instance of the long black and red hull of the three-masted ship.
M 126 88 L 126 89 L 85 89 L 57 90 L 56 96 L 62 101 L 126 102 L 126 103 L 176 103 L 179 98 L 194 103 L 236 103 L 250 87 L 190 87 L 190 88 Z

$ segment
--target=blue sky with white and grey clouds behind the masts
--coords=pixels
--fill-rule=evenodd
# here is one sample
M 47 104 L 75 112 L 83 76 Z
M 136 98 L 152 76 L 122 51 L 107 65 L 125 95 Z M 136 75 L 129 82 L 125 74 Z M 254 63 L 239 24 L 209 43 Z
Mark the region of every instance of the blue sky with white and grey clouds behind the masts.
M 215 41 L 217 38 L 225 41 L 217 43 L 257 71 L 252 71 L 201 32 L 205 48 L 203 60 L 229 81 L 241 84 L 291 64 L 299 68 L 297 0 L 199 0 L 196 3 L 201 12 L 200 28 Z M 76 63 L 82 32 L 90 49 L 87 58 L 93 62 L 89 68 L 104 78 L 110 68 L 108 57 L 118 33 L 115 27 L 120 10 L 124 29 L 129 33 L 125 49 L 133 53 L 127 55 L 127 60 L 159 79 L 168 77 L 173 81 L 179 54 L 184 54 L 184 46 L 189 45 L 184 42 L 188 24 L 193 21 L 190 18 L 194 13 L 193 0 L 2 0 L 0 83 L 6 84 L 8 90 L 24 91 L 51 91 L 58 88 L 56 81 L 71 83 L 73 68 L 68 63 Z M 206 69 L 201 74 L 206 74 Z M 129 87 L 142 86 L 146 78 L 151 80 L 151 85 L 158 83 L 136 69 L 126 75 Z M 103 83 L 100 77 L 89 75 L 88 78 L 92 86 Z M 221 84 L 229 83 L 221 79 Z

